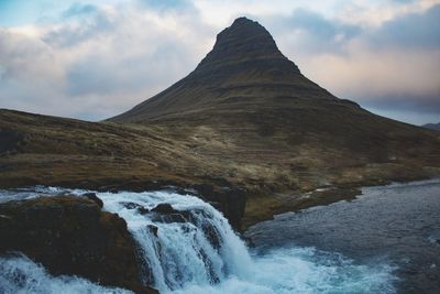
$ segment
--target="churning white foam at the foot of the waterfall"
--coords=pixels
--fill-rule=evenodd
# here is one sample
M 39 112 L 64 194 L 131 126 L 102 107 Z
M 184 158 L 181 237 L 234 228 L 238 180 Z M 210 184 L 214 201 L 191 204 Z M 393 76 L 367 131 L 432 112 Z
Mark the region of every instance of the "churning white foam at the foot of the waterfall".
M 316 259 L 312 248 L 277 249 L 254 258 L 251 279 L 232 276 L 213 286 L 188 284 L 170 293 L 395 293 L 388 265 L 354 265 L 338 254 L 321 262 Z

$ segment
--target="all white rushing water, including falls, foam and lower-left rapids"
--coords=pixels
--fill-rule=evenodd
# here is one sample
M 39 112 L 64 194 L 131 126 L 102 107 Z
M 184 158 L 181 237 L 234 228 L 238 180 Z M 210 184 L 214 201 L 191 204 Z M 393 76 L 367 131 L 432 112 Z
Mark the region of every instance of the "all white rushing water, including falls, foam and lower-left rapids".
M 59 189 L 45 192 L 57 194 Z M 68 192 L 77 195 L 84 193 Z M 340 254 L 319 252 L 312 248 L 279 248 L 264 254 L 250 252 L 218 210 L 190 195 L 169 192 L 97 194 L 105 203 L 103 209 L 125 219 L 139 244 L 140 261 L 144 268 L 143 279 L 161 293 L 395 292 L 393 268 L 386 264 L 359 265 Z M 7 196 L 11 197 L 11 194 Z M 16 194 L 14 197 L 23 196 Z M 32 195 L 26 194 L 25 197 Z M 23 262 L 20 258 L 3 258 L 0 259 L 0 266 L 11 272 L 20 262 Z M 25 262 L 32 263 L 29 260 Z M 43 279 L 32 273 L 26 274 L 31 280 Z M 0 276 L 3 279 L 0 280 L 0 290 L 3 283 L 13 288 L 11 281 L 14 280 L 11 280 L 11 275 L 0 273 Z M 38 276 L 47 281 L 52 279 L 54 284 L 67 281 L 43 273 Z M 67 292 L 81 293 L 72 286 L 72 283 L 78 281 L 84 284 L 84 280 L 67 281 L 70 285 L 66 285 Z M 91 290 L 94 293 L 108 291 L 91 283 L 89 285 L 90 288 L 95 287 Z M 44 288 L 33 293 L 57 292 Z

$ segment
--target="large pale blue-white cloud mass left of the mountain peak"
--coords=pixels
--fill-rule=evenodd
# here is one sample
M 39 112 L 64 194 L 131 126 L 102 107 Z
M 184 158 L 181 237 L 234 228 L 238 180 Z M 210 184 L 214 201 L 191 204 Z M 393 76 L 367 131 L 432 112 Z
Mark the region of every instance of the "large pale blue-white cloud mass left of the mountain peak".
M 0 29 L 1 107 L 105 119 L 188 74 L 215 39 L 197 14 L 151 7 L 74 4 L 62 15 Z

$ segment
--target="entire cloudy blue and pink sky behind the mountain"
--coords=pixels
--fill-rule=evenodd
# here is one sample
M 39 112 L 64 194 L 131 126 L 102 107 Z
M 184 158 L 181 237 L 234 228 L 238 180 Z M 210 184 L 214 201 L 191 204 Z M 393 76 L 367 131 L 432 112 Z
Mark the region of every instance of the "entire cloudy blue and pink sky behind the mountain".
M 440 0 L 0 0 L 0 108 L 121 113 L 189 74 L 242 15 L 337 97 L 440 121 Z

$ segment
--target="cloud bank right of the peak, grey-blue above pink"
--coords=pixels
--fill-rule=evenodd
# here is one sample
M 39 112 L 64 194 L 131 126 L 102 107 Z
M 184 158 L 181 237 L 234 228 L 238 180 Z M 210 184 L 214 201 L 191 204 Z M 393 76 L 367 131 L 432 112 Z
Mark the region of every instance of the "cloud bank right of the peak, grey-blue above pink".
M 267 21 L 280 50 L 337 96 L 374 109 L 440 117 L 440 6 L 378 26 L 304 10 Z

